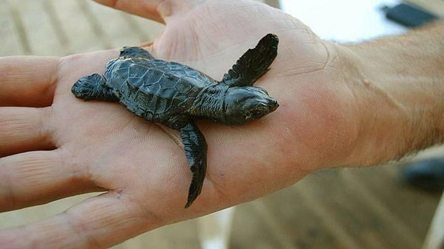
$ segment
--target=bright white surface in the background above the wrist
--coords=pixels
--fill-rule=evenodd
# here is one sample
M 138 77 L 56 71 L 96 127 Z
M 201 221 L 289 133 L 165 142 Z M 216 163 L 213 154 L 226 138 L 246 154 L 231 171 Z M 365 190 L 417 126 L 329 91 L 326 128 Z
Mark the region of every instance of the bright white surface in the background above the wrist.
M 385 18 L 381 6 L 399 0 L 280 0 L 282 10 L 307 24 L 318 36 L 338 42 L 369 40 L 403 33 L 404 27 Z

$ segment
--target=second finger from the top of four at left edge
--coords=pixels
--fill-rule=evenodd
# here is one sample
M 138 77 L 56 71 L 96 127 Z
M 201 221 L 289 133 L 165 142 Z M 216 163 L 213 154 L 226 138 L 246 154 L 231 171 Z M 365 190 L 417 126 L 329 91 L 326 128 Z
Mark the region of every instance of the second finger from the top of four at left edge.
M 0 107 L 0 156 L 55 149 L 50 107 Z

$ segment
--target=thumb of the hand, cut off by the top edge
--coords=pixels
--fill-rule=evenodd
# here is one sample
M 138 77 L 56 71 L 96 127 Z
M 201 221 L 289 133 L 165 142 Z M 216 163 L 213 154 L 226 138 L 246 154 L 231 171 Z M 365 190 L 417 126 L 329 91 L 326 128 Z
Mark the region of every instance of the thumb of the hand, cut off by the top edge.
M 94 0 L 117 10 L 138 15 L 156 22 L 169 22 L 176 14 L 184 13 L 196 4 L 196 0 Z M 201 1 L 200 1 L 201 2 Z

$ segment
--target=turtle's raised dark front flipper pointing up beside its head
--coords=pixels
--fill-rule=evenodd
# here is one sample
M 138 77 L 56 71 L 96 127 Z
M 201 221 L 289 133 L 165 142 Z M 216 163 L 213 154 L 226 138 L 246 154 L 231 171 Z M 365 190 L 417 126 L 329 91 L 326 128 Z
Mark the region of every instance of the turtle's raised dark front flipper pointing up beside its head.
M 278 43 L 278 36 L 268 33 L 259 40 L 255 48 L 248 50 L 238 59 L 220 83 L 228 86 L 252 86 L 268 71 L 278 55 Z

